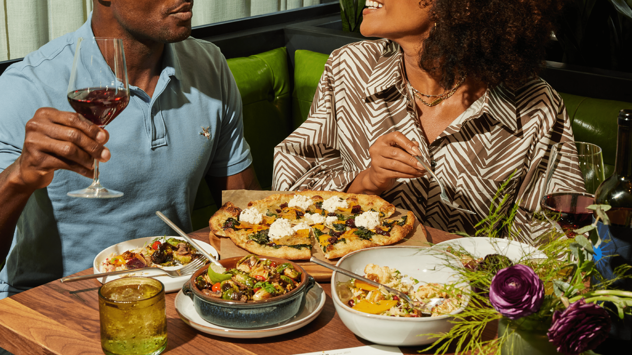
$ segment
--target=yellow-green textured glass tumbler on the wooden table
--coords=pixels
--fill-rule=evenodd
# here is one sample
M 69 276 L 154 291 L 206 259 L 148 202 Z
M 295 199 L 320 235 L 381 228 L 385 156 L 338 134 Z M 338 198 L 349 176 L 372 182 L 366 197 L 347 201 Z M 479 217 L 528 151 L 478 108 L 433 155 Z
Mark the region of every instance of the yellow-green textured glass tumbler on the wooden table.
M 122 277 L 99 289 L 101 347 L 107 355 L 157 355 L 167 348 L 164 285 Z

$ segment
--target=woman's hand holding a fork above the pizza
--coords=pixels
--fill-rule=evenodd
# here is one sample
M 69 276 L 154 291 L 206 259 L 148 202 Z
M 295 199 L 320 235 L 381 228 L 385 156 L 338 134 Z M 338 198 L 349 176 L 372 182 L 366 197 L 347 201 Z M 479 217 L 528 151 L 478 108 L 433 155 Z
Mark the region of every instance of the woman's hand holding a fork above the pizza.
M 391 132 L 377 138 L 368 148 L 371 163 L 349 185 L 349 193 L 380 195 L 395 183 L 395 179 L 415 179 L 425 174 L 415 155 L 422 155 L 419 143 L 406 138 L 401 132 Z

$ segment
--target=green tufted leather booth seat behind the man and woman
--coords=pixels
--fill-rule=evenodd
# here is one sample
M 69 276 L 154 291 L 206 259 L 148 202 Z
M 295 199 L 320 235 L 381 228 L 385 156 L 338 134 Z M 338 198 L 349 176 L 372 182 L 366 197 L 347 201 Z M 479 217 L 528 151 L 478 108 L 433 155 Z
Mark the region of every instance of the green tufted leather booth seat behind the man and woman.
M 293 82 L 285 48 L 228 59 L 243 100 L 244 135 L 264 189 L 272 186 L 273 149 L 305 121 L 327 57 L 328 54 L 297 50 Z M 632 103 L 560 94 L 571 118 L 575 139 L 602 148 L 605 176 L 610 176 L 616 157 L 616 117 L 621 109 L 632 108 Z M 208 226 L 216 209 L 202 181 L 192 214 L 193 229 Z

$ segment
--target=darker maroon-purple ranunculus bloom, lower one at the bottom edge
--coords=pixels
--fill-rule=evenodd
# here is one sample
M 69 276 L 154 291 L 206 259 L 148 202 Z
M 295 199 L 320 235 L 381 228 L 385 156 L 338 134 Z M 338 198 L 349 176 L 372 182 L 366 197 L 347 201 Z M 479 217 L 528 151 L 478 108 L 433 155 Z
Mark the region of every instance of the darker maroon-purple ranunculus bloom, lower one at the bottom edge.
M 580 354 L 595 349 L 610 332 L 608 312 L 584 299 L 571 304 L 566 310 L 555 311 L 549 332 L 549 341 L 557 352 L 566 355 Z

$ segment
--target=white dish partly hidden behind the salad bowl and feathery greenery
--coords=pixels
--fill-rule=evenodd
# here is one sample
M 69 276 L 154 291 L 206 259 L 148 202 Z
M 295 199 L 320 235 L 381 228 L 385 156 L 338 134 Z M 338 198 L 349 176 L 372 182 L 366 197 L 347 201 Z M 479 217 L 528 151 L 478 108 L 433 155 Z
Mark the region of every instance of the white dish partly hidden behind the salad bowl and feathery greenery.
M 441 243 L 435 244 L 432 248 L 446 250 L 448 246 L 452 246 L 456 249 L 459 247 L 463 248 L 463 250 L 467 251 L 475 258 L 483 258 L 485 255 L 489 254 L 504 255 L 511 259 L 514 263 L 520 262 L 520 260 L 547 257 L 544 253 L 529 244 L 501 238 L 458 238 L 449 241 L 442 241 Z

